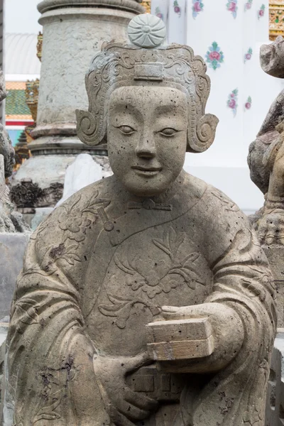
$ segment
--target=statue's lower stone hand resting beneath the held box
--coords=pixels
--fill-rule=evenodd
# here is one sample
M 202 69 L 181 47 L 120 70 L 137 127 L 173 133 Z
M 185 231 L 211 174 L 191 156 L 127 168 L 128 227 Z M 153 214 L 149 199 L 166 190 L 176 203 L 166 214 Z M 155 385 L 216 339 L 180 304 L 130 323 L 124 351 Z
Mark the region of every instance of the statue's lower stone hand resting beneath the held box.
M 94 373 L 114 425 L 134 426 L 157 408 L 155 400 L 131 391 L 125 380 L 128 374 L 151 362 L 147 354 L 133 357 L 94 356 Z

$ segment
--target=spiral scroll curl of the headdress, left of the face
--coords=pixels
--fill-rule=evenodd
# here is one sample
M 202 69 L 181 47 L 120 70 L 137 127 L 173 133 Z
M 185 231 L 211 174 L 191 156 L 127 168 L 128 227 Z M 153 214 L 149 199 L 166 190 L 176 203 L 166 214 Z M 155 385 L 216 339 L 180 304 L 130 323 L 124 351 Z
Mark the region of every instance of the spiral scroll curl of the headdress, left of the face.
M 97 119 L 89 111 L 82 111 L 82 109 L 76 109 L 77 117 L 77 136 L 80 141 L 87 143 L 87 145 L 98 145 L 98 125 Z

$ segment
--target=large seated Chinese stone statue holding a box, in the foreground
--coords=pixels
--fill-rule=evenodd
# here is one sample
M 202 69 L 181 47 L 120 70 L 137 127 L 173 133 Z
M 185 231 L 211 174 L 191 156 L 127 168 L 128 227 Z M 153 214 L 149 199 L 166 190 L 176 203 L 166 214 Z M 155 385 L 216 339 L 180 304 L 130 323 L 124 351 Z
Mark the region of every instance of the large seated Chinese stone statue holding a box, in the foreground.
M 263 426 L 271 272 L 236 204 L 182 170 L 214 140 L 206 66 L 155 16 L 129 39 L 95 56 L 77 111 L 114 175 L 40 224 L 18 278 L 11 425 Z

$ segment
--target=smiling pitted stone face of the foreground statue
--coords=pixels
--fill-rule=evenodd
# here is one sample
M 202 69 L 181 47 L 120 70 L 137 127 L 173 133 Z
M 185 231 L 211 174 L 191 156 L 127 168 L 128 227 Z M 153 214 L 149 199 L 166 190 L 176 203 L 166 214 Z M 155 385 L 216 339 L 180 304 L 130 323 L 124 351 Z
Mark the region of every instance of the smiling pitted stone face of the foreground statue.
M 109 100 L 109 162 L 126 190 L 158 195 L 178 178 L 187 146 L 187 98 L 170 87 L 120 87 Z

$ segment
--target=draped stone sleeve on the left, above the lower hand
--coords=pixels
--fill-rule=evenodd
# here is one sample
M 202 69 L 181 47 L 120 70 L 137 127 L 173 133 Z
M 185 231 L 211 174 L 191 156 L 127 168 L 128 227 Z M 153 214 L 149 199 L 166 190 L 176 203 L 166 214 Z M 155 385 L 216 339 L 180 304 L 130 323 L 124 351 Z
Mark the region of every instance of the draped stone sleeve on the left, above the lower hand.
M 7 342 L 5 398 L 15 410 L 13 424 L 92 425 L 100 405 L 104 411 L 94 376 L 96 351 L 80 310 L 90 210 L 81 214 L 76 199 L 63 205 L 28 244 Z

